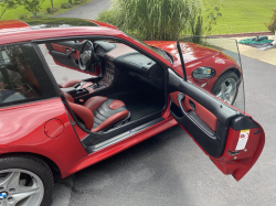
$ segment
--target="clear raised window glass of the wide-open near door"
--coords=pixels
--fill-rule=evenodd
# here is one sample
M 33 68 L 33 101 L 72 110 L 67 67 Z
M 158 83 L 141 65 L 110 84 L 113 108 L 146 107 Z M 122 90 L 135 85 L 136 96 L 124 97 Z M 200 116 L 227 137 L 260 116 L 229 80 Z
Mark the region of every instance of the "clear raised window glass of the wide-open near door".
M 185 36 L 179 43 L 187 80 L 244 112 L 244 79 L 236 41 Z

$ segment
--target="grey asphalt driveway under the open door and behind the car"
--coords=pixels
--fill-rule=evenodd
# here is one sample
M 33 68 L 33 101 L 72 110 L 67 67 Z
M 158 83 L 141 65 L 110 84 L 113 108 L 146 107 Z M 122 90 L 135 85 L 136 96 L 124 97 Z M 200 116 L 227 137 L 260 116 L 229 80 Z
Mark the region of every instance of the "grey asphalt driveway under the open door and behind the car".
M 108 3 L 94 0 L 59 17 L 94 19 Z M 56 183 L 52 206 L 275 205 L 276 66 L 246 56 L 242 64 L 246 112 L 263 126 L 266 144 L 241 182 L 223 175 L 177 126 Z

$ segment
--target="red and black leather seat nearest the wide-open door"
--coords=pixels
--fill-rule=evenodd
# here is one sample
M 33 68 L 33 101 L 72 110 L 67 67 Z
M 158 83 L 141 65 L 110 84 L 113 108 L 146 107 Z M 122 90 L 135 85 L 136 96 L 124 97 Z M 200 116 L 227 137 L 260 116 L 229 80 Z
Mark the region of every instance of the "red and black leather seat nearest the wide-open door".
M 68 93 L 63 91 L 63 94 L 73 112 L 81 118 L 85 127 L 93 132 L 102 131 L 130 117 L 130 112 L 120 100 L 95 96 L 87 99 L 84 106 L 82 106 L 75 104 Z

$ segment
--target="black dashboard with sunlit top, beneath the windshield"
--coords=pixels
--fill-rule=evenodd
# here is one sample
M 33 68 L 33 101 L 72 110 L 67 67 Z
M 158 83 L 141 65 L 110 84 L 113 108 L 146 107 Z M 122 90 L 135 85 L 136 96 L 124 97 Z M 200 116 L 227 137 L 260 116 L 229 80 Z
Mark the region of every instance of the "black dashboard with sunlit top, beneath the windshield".
M 96 55 L 103 57 L 106 63 L 106 80 L 113 80 L 114 71 L 127 73 L 128 75 L 163 88 L 163 69 L 155 61 L 148 58 L 136 50 L 123 43 L 94 42 Z

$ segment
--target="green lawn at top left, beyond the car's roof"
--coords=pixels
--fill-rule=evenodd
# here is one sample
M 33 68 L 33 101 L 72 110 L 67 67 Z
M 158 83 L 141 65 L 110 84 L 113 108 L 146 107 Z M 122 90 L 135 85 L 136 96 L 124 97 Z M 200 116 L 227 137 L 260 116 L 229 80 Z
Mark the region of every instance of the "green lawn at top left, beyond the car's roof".
M 65 11 L 68 11 L 71 9 L 74 9 L 76 7 L 79 7 L 84 3 L 87 3 L 89 1 L 93 1 L 93 0 L 86 0 L 85 2 L 81 2 L 78 1 L 78 4 L 72 4 L 72 8 L 70 9 L 62 9 L 61 8 L 61 4 L 64 3 L 64 2 L 68 2 L 68 0 L 54 0 L 54 8 L 56 8 L 59 11 L 53 13 L 53 14 L 49 14 L 46 12 L 46 9 L 47 8 L 51 8 L 51 1 L 50 0 L 45 0 L 43 3 L 42 3 L 42 9 L 40 10 L 40 12 L 38 13 L 38 15 L 42 17 L 42 18 L 47 18 L 47 17 L 51 17 L 51 15 L 55 15 L 55 14 L 59 14 L 59 13 L 63 13 Z M 32 17 L 32 14 L 24 9 L 24 7 L 18 7 L 17 9 L 13 9 L 13 10 L 8 10 L 1 20 L 11 20 L 11 19 L 19 19 L 19 15 L 20 14 L 26 14 L 29 18 Z

